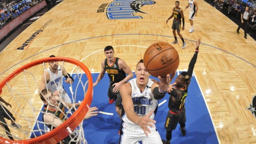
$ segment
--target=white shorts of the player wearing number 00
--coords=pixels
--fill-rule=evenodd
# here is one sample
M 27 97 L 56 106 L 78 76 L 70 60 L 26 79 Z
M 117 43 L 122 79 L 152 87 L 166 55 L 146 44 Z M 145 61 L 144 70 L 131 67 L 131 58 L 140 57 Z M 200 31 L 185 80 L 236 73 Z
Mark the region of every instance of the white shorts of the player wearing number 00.
M 162 144 L 161 137 L 155 127 L 150 128 L 150 131 L 151 133 L 148 133 L 148 137 L 146 137 L 139 125 L 124 123 L 120 144 L 137 144 L 139 141 L 142 141 L 143 144 Z

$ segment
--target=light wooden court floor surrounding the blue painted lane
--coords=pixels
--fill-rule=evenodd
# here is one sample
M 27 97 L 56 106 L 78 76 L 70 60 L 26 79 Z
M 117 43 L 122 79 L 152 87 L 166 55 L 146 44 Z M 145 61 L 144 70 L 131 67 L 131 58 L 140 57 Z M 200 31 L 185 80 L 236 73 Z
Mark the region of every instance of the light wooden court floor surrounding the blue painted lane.
M 0 53 L 0 80 L 21 65 L 52 54 L 80 60 L 91 72 L 98 72 L 99 63 L 105 58 L 103 48 L 108 45 L 113 46 L 116 57 L 125 60 L 134 71 L 148 46 L 155 42 L 174 41 L 172 20 L 168 24 L 165 21 L 172 13 L 175 1 L 155 0 L 154 4 L 145 1 L 148 3 L 143 3 L 143 6 L 138 4 L 140 9 L 137 10 L 141 12 L 131 12 L 129 2 L 132 0 L 64 0 Z M 194 74 L 203 92 L 219 143 L 256 143 L 256 111 L 248 109 L 256 95 L 256 42 L 249 35 L 244 39 L 243 30 L 240 30 L 240 34 L 236 33 L 238 26 L 207 2 L 197 2 L 199 10 L 194 20 L 195 31 L 188 33 L 187 1 L 180 1 L 185 15 L 185 30 L 181 34 L 187 46 L 182 49 L 179 38 L 179 43 L 173 45 L 180 55 L 178 69 L 188 68 L 194 52 L 194 41 L 201 38 Z M 124 13 L 131 18 L 121 17 Z M 118 15 L 120 19 L 112 17 L 112 14 Z M 111 20 L 111 17 L 115 19 Z M 71 66 L 66 67 L 68 72 L 72 69 Z M 38 84 L 43 70 L 35 67 L 31 71 Z M 10 82 L 10 85 L 17 85 L 17 89 L 26 94 L 20 81 Z M 37 91 L 32 85 L 29 86 L 32 91 Z M 16 122 L 29 129 L 27 122 L 20 120 L 19 116 L 20 107 L 26 108 L 26 102 L 17 105 L 6 89 L 3 89 L 1 97 L 18 113 L 15 114 Z M 32 104 L 39 108 L 42 106 L 36 94 Z M 11 129 L 11 133 L 20 135 L 20 131 L 14 129 Z M 24 139 L 27 137 L 24 136 Z

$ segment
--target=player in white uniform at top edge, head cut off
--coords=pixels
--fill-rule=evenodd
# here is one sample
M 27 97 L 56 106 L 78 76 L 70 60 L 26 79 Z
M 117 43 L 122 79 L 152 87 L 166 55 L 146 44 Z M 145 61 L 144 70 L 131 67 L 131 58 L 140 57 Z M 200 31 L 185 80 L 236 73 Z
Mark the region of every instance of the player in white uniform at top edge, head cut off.
M 197 15 L 197 11 L 198 11 L 197 2 L 195 0 L 188 0 L 188 5 L 186 6 L 186 9 L 188 7 L 190 7 L 189 20 L 190 20 L 190 26 L 191 26 L 191 29 L 188 32 L 191 33 L 194 31 L 193 20 L 194 20 L 194 17 Z

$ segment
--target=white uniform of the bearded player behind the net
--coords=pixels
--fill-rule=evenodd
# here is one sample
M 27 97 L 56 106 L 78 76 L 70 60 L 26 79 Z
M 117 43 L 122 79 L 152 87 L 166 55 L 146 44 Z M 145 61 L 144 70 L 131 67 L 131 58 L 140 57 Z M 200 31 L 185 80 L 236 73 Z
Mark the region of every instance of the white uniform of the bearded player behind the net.
M 61 91 L 60 97 L 67 103 L 71 103 L 71 99 L 69 98 L 66 91 L 63 89 L 63 79 L 62 79 L 62 69 L 60 69 L 60 66 L 58 65 L 58 74 L 54 74 L 50 68 L 47 68 L 47 71 L 50 74 L 50 81 L 47 82 L 47 88 L 52 91 Z M 57 87 L 56 87 L 57 85 Z

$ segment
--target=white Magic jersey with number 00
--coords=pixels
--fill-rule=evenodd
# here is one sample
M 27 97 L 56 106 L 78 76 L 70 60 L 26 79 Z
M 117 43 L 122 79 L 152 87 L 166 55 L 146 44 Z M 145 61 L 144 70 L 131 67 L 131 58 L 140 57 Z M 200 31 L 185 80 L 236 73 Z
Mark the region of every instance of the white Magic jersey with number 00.
M 139 116 L 145 116 L 151 110 L 155 110 L 156 106 L 158 105 L 158 101 L 154 98 L 154 95 L 151 92 L 151 85 L 154 83 L 149 79 L 147 86 L 143 92 L 140 92 L 139 87 L 136 83 L 136 78 L 129 81 L 132 86 L 132 101 L 134 105 L 134 112 L 137 113 Z M 150 119 L 154 119 L 154 113 L 150 116 Z M 124 114 L 123 116 L 124 123 L 135 124 L 131 122 L 127 115 Z

